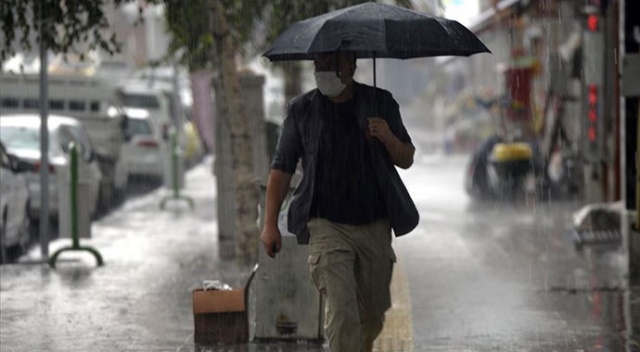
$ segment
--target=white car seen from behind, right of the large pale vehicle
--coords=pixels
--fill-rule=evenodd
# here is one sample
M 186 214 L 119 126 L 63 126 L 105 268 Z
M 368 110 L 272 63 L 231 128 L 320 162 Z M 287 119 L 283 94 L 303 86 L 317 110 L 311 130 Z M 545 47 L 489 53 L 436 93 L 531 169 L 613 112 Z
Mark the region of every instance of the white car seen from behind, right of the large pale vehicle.
M 125 160 L 129 175 L 162 180 L 167 143 L 162 136 L 161 127 L 151 118 L 146 109 L 126 108 L 128 116 L 125 145 Z

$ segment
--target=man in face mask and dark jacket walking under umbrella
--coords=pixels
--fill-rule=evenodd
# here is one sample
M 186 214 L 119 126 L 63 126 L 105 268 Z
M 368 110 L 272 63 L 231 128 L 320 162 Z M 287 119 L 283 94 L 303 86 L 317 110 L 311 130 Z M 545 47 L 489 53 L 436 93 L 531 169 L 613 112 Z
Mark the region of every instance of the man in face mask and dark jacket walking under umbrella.
M 302 159 L 288 231 L 309 245 L 331 351 L 368 352 L 391 306 L 391 230 L 401 236 L 418 223 L 395 169 L 413 164 L 415 148 L 391 94 L 353 80 L 355 55 L 320 54 L 314 65 L 317 89 L 294 98 L 287 109 L 260 238 L 275 257 L 281 249 L 278 213 Z

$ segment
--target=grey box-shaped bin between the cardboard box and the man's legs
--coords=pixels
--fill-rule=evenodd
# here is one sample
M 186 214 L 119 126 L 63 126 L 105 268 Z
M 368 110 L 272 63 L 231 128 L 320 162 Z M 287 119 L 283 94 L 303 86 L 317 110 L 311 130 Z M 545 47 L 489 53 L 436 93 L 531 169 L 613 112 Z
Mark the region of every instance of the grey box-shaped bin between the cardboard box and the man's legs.
M 264 224 L 264 195 L 261 187 L 259 224 Z M 298 245 L 289 233 L 287 207 L 280 212 L 279 227 L 282 249 L 276 258 L 260 250 L 260 269 L 255 277 L 256 323 L 255 340 L 324 340 L 324 306 L 311 281 L 307 264 L 308 247 Z

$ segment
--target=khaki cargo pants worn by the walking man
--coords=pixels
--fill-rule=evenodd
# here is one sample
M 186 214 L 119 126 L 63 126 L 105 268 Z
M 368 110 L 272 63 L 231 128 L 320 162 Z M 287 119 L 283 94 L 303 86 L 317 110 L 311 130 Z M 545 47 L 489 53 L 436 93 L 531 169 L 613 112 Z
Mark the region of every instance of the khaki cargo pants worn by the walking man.
M 308 226 L 309 269 L 325 298 L 331 352 L 369 352 L 391 307 L 389 220 L 353 226 L 312 219 Z

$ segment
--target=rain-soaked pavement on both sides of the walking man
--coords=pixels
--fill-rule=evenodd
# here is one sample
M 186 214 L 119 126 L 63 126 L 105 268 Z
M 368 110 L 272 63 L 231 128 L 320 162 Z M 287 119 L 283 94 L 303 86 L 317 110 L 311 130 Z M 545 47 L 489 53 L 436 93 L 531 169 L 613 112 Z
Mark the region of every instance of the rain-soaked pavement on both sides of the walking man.
M 420 157 L 402 172 L 421 212 L 419 228 L 394 242 L 408 287 L 394 307 L 407 308 L 410 331 L 388 345 L 403 347 L 376 350 L 626 351 L 622 249 L 574 248 L 566 229 L 579 204 L 473 204 L 461 187 L 465 161 Z M 38 248 L 0 267 L 0 351 L 196 350 L 191 289 L 203 279 L 242 285 L 250 269 L 217 258 L 209 167 L 187 175 L 195 211 L 160 211 L 159 189 L 96 221 L 81 243 L 102 253 L 103 267 L 86 253 L 63 255 L 56 270 L 24 264 Z

